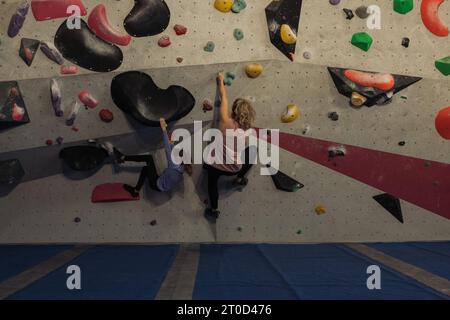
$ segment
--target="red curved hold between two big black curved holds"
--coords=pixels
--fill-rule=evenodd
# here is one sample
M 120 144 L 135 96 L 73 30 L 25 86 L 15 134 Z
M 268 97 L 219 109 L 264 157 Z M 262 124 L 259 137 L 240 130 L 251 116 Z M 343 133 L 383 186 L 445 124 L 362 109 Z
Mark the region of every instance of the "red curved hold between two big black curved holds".
M 131 36 L 128 33 L 120 32 L 111 26 L 106 16 L 106 8 L 102 4 L 92 10 L 88 19 L 88 26 L 97 37 L 107 42 L 127 46 L 131 41 Z

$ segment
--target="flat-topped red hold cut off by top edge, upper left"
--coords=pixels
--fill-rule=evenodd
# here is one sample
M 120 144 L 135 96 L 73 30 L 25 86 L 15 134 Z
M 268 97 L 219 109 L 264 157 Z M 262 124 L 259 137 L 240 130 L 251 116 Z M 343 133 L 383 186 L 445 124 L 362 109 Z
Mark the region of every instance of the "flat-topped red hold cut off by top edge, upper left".
M 37 21 L 44 21 L 71 16 L 73 13 L 70 11 L 67 13 L 67 8 L 72 5 L 80 8 L 81 16 L 87 15 L 86 7 L 81 0 L 32 0 L 31 10 Z

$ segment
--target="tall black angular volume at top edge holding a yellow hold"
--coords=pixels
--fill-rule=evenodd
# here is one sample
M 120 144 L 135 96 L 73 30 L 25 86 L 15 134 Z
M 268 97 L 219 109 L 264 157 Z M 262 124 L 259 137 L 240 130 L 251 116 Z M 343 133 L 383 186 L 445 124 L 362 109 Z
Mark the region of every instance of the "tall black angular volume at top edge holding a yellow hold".
M 286 44 L 281 40 L 280 28 L 283 24 L 287 24 L 297 34 L 301 10 L 302 0 L 276 0 L 266 7 L 270 41 L 291 60 L 292 55 L 295 54 L 296 45 Z

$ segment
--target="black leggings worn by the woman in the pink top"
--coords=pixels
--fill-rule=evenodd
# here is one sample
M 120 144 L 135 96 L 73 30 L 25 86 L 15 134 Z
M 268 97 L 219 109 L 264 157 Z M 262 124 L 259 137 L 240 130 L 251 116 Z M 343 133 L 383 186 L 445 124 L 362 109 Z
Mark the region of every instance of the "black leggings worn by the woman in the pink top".
M 249 149 L 245 150 L 245 164 L 242 165 L 242 169 L 238 172 L 227 172 L 216 169 L 209 164 L 205 164 L 204 169 L 208 171 L 208 195 L 211 209 L 217 210 L 219 207 L 219 178 L 220 176 L 237 176 L 238 178 L 244 178 L 250 171 L 252 165 L 249 161 Z

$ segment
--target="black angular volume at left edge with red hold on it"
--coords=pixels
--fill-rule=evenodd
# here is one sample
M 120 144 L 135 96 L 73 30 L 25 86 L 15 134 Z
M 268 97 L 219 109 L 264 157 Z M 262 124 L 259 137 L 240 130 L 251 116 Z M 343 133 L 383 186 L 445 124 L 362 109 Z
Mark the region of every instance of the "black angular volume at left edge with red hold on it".
M 0 130 L 29 122 L 19 84 L 16 81 L 0 82 Z

